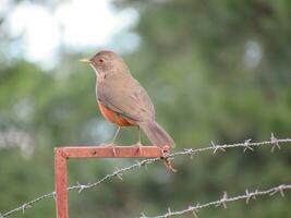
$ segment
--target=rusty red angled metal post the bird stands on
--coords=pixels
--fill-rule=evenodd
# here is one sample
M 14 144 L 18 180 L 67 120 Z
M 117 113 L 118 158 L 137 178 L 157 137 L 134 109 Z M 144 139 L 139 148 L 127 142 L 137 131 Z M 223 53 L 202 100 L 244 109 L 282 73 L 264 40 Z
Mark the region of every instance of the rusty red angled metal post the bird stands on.
M 54 148 L 57 218 L 69 218 L 66 160 L 69 158 L 154 158 L 163 157 L 169 147 L 157 146 L 82 146 Z

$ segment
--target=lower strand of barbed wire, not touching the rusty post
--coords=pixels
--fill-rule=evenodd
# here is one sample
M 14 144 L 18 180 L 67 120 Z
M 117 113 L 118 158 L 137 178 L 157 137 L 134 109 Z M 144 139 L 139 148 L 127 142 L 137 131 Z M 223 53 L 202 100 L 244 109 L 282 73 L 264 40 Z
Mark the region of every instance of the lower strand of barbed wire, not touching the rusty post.
M 234 202 L 234 201 L 239 201 L 239 199 L 245 199 L 245 203 L 248 204 L 250 199 L 256 199 L 257 196 L 259 195 L 269 195 L 272 196 L 276 193 L 280 193 L 281 196 L 284 196 L 284 190 L 290 190 L 291 189 L 291 184 L 280 184 L 278 186 L 271 187 L 269 190 L 264 190 L 264 191 L 258 191 L 255 190 L 254 192 L 248 192 L 248 190 L 245 190 L 245 194 L 239 195 L 239 196 L 234 196 L 234 197 L 228 197 L 228 193 L 225 192 L 222 197 L 220 199 L 214 201 L 214 202 L 208 202 L 205 204 L 196 204 L 195 206 L 189 206 L 189 208 L 183 209 L 183 210 L 179 210 L 179 211 L 171 211 L 170 208 L 168 208 L 168 213 L 163 214 L 163 215 L 159 215 L 159 216 L 155 216 L 155 217 L 148 217 L 145 216 L 144 213 L 142 213 L 141 218 L 170 218 L 173 216 L 178 216 L 178 215 L 184 215 L 184 214 L 190 214 L 192 213 L 192 215 L 197 218 L 197 213 L 199 209 L 205 208 L 205 207 L 210 207 L 210 206 L 222 206 L 225 209 L 227 208 L 227 203 L 230 202 Z

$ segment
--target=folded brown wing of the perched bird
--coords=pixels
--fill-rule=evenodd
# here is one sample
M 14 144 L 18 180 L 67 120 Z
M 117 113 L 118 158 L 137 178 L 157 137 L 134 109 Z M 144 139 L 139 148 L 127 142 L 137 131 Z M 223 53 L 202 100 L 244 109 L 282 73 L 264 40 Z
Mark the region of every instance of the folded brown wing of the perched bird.
M 130 74 L 105 78 L 97 84 L 97 98 L 106 107 L 131 120 L 142 122 L 153 120 L 155 109 L 141 84 Z

